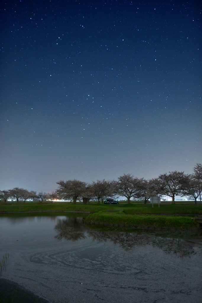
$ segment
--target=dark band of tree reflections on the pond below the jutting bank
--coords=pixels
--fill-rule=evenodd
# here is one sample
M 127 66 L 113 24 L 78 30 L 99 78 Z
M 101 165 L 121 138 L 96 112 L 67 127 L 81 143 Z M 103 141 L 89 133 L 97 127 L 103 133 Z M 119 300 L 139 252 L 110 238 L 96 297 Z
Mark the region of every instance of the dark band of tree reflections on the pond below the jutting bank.
M 55 231 L 58 235 L 56 239 L 77 241 L 86 238 L 86 234 L 92 238 L 93 241 L 107 242 L 111 241 L 115 245 L 119 245 L 124 250 L 128 251 L 135 247 L 144 247 L 146 245 L 152 245 L 155 248 L 160 248 L 166 253 L 174 253 L 179 257 L 190 256 L 196 254 L 194 246 L 201 249 L 201 241 L 195 243 L 194 241 L 156 236 L 154 233 L 149 234 L 139 231 L 138 233 L 131 232 L 118 232 L 118 231 L 101 231 L 91 229 L 87 225 L 83 224 L 82 218 L 67 218 L 65 220 L 59 220 L 55 226 Z

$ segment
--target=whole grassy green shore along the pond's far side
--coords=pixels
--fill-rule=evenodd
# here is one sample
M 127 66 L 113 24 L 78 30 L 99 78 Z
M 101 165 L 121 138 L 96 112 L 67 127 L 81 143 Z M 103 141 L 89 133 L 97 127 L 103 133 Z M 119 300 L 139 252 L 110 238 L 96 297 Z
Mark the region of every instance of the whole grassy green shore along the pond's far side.
M 151 205 L 13 205 L 0 207 L 0 216 L 78 216 L 87 224 L 166 230 L 200 231 L 202 207 Z

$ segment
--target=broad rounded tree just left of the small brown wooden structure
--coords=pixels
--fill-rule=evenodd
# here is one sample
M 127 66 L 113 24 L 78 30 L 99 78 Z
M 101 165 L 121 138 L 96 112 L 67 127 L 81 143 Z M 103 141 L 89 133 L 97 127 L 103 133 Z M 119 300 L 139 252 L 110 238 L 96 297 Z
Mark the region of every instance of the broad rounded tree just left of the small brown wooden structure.
M 56 182 L 59 187 L 56 193 L 61 199 L 71 199 L 73 198 L 73 203 L 76 204 L 78 198 L 82 197 L 82 193 L 85 191 L 86 182 L 79 180 L 68 180 Z

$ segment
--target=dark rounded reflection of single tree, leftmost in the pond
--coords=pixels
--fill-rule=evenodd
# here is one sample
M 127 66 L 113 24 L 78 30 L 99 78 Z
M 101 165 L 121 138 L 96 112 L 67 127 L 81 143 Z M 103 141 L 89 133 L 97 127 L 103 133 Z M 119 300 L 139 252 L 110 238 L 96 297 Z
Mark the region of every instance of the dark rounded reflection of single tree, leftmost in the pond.
M 86 228 L 84 228 L 82 218 L 59 219 L 54 229 L 56 232 L 58 232 L 58 235 L 55 236 L 55 238 L 59 241 L 61 241 L 62 238 L 72 241 L 86 238 L 84 234 Z

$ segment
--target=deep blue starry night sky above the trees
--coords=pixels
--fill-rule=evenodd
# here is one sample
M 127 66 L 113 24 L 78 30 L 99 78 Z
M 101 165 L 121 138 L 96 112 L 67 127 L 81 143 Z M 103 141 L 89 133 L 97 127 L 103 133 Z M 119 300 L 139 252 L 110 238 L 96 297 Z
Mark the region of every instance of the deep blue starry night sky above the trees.
M 191 173 L 200 1 L 1 1 L 0 189 Z

